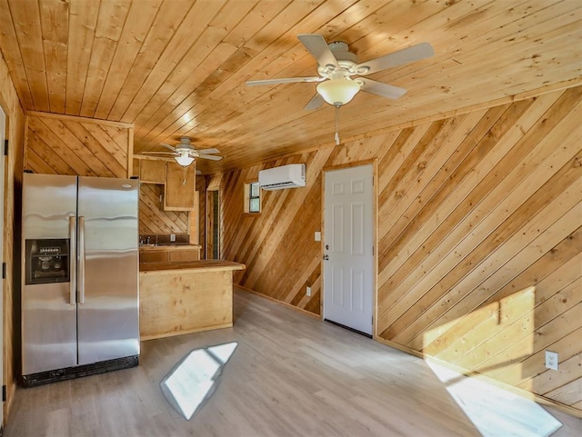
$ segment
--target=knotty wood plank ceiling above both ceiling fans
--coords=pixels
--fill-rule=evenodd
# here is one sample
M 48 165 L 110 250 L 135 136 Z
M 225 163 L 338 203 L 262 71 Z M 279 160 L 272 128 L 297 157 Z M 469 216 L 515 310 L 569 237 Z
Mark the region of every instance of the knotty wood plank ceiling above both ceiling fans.
M 26 111 L 135 124 L 135 153 L 216 147 L 216 173 L 334 141 L 296 35 L 345 41 L 360 61 L 428 42 L 430 59 L 370 77 L 398 100 L 357 94 L 340 110 L 354 138 L 582 83 L 578 0 L 0 0 L 0 50 Z

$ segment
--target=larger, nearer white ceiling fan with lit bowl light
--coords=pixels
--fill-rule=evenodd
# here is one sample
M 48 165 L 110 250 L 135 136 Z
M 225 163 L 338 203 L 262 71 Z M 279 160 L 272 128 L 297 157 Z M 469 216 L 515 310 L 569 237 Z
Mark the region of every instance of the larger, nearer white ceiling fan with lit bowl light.
M 303 34 L 298 35 L 297 38 L 306 46 L 307 51 L 316 58 L 317 74 L 319 75 L 256 80 L 248 81 L 246 84 L 255 86 L 317 82 L 319 83 L 316 86 L 317 94 L 306 104 L 305 109 L 317 109 L 324 101 L 339 107 L 351 101 L 360 90 L 397 99 L 406 93 L 406 89 L 390 84 L 382 84 L 362 76 L 435 55 L 431 45 L 422 43 L 359 63 L 357 56 L 349 51 L 346 43 L 335 42 L 327 44 L 324 37 L 317 34 Z

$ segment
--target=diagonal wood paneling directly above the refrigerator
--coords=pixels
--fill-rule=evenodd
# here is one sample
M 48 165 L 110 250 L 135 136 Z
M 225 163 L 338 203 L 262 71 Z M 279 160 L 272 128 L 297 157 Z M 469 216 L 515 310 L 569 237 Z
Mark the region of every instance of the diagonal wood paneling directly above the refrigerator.
M 29 113 L 25 170 L 40 174 L 129 175 L 130 124 Z

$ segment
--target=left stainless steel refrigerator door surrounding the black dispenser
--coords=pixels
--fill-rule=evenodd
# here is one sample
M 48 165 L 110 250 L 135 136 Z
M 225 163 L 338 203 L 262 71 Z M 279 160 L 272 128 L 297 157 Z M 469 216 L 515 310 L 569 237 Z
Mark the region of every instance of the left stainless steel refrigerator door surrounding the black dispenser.
M 76 176 L 24 174 L 22 241 L 22 372 L 28 375 L 76 364 L 76 305 L 71 283 L 27 285 L 25 242 L 70 238 Z M 71 219 L 72 218 L 72 219 Z M 70 263 L 75 260 L 69 257 Z M 71 268 L 71 266 L 69 266 Z

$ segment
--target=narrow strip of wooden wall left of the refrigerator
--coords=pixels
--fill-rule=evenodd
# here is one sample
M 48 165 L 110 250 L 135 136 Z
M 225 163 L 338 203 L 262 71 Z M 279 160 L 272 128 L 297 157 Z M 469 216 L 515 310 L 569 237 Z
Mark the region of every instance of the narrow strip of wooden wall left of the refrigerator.
M 3 281 L 3 381 L 6 385 L 4 418 L 14 400 L 15 378 L 20 372 L 20 190 L 22 184 L 25 113 L 16 95 L 5 60 L 0 55 L 0 106 L 6 115 L 4 253 L 6 278 Z

